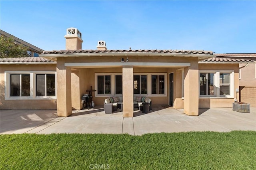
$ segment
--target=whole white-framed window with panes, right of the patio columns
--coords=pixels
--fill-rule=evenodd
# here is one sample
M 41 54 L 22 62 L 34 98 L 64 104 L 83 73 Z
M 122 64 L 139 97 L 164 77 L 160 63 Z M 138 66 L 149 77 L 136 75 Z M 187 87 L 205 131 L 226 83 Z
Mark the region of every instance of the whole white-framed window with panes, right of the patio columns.
M 200 97 L 234 97 L 234 71 L 199 71 Z

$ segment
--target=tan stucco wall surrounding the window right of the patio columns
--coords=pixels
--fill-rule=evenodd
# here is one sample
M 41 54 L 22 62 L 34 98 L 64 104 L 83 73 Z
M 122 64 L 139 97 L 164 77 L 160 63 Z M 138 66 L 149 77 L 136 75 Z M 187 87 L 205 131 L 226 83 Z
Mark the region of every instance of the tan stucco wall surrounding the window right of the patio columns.
M 239 89 L 239 68 L 238 64 L 199 64 L 199 70 L 234 70 L 234 97 L 200 97 L 199 98 L 199 108 L 221 108 L 221 107 L 232 107 L 234 98 L 239 101 L 239 94 L 236 93 L 236 89 Z

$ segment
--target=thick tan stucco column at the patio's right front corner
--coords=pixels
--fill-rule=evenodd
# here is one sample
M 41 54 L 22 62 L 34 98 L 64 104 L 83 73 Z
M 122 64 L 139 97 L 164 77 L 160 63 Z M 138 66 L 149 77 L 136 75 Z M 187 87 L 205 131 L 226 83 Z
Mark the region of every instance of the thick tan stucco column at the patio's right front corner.
M 198 115 L 199 78 L 198 69 L 184 69 L 184 113 Z

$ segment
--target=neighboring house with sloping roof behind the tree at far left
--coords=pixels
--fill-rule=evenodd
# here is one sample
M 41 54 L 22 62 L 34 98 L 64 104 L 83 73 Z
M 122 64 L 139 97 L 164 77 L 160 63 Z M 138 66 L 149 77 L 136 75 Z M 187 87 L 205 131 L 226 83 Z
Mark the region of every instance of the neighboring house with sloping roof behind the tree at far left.
M 43 49 L 40 49 L 40 48 L 38 48 L 38 47 L 28 43 L 28 42 L 25 42 L 25 41 L 21 40 L 20 38 L 17 38 L 17 37 L 15 37 L 15 36 L 7 33 L 7 32 L 4 32 L 3 30 L 0 30 L 0 36 L 2 36 L 2 35 L 6 36 L 6 37 L 13 37 L 15 43 L 23 44 L 26 47 L 28 47 L 29 50 L 27 52 L 28 52 L 28 55 L 30 57 L 38 57 L 38 55 L 41 54 L 44 51 Z

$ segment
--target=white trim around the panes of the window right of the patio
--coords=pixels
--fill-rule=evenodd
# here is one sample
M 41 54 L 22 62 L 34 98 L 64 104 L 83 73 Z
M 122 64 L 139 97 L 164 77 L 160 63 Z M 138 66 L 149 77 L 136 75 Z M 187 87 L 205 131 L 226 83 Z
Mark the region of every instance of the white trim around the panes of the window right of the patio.
M 200 70 L 200 73 L 214 73 L 214 91 L 216 92 L 214 96 L 200 95 L 200 85 L 199 85 L 199 99 L 223 99 L 223 98 L 234 98 L 234 70 Z M 230 74 L 230 95 L 220 95 L 220 73 Z M 200 84 L 200 79 L 198 80 Z

